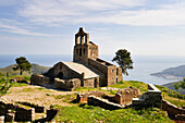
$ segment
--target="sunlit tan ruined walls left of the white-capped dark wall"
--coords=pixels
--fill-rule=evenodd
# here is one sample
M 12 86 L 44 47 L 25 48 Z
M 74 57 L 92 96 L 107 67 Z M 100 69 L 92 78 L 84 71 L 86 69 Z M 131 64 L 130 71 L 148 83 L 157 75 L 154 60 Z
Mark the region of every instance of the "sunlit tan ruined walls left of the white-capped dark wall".
M 107 95 L 103 91 L 91 91 L 87 94 L 78 94 L 77 100 L 82 103 L 91 106 L 100 106 L 104 109 L 114 110 L 122 109 L 132 103 L 134 97 L 138 97 L 138 89 L 135 87 L 126 87 L 120 89 L 115 96 Z

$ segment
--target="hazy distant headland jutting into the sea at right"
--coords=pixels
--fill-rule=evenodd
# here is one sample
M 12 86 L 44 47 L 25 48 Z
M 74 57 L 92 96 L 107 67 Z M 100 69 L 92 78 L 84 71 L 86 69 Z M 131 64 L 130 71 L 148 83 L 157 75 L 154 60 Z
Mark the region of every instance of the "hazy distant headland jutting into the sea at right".
M 170 69 L 163 70 L 162 72 L 152 73 L 150 75 L 169 78 L 169 79 L 170 78 L 182 78 L 182 77 L 185 77 L 185 65 L 170 67 Z

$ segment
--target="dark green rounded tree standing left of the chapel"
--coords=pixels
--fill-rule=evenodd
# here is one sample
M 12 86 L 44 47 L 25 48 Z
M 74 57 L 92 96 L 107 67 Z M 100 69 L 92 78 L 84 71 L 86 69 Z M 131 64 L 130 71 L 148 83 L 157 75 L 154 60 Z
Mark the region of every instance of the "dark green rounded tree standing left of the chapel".
M 24 71 L 30 72 L 32 64 L 26 60 L 25 57 L 20 57 L 15 59 L 16 66 L 13 67 L 14 71 L 20 70 L 20 75 L 23 75 Z

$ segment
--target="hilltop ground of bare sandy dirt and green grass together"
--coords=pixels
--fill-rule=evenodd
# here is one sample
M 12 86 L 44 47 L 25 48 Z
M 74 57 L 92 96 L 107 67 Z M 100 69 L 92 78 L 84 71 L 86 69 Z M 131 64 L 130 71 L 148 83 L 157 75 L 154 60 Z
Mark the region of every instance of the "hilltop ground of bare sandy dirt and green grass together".
M 109 87 L 112 88 L 125 88 L 127 86 L 137 87 L 140 89 L 140 93 L 147 91 L 147 84 L 143 82 L 126 81 L 121 82 Z M 177 93 L 170 90 L 165 87 L 158 86 L 162 90 L 162 96 L 166 100 L 171 101 L 174 104 L 180 104 L 181 107 L 185 103 L 185 98 L 183 95 L 180 95 L 181 102 L 177 100 Z M 76 99 L 77 91 L 88 93 L 91 90 L 101 90 L 109 94 L 115 94 L 118 90 L 103 90 L 99 88 L 76 88 L 74 91 L 60 91 L 53 89 L 47 89 L 39 86 L 13 86 L 10 88 L 9 93 L 3 96 L 3 98 L 17 102 L 26 101 L 39 106 L 46 106 L 47 108 L 51 107 L 59 109 L 58 114 L 52 120 L 53 122 L 66 122 L 66 123 L 173 123 L 164 111 L 161 111 L 156 108 L 135 110 L 134 108 L 126 108 L 120 110 L 106 110 L 100 107 L 92 107 L 82 103 L 73 103 L 73 100 Z M 18 96 L 17 96 L 18 95 Z M 164 98 L 163 97 L 163 98 Z

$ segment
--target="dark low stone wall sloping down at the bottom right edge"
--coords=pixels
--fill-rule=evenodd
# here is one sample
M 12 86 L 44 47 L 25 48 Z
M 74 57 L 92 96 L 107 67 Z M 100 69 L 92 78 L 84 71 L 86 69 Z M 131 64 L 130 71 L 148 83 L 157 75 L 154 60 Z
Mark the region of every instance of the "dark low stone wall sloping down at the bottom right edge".
M 177 108 L 164 99 L 162 100 L 162 110 L 168 111 L 170 119 L 185 121 L 185 109 Z

